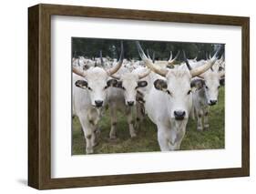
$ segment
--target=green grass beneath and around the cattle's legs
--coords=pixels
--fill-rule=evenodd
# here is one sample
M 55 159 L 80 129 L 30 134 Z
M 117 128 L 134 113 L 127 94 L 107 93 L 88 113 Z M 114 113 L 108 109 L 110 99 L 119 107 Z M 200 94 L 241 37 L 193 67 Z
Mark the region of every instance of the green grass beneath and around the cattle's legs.
M 128 153 L 128 152 L 150 152 L 159 151 L 157 139 L 157 128 L 147 118 L 142 128 L 138 131 L 137 138 L 130 138 L 128 123 L 125 117 L 118 115 L 118 138 L 110 140 L 110 118 L 107 114 L 99 123 L 100 138 L 99 144 L 94 148 L 96 154 L 103 153 Z M 210 129 L 198 131 L 196 121 L 189 119 L 188 131 L 181 143 L 181 149 L 212 149 L 224 148 L 224 87 L 220 87 L 218 105 L 210 107 Z M 86 154 L 86 140 L 81 131 L 77 117 L 73 118 L 72 128 L 72 153 L 73 155 Z

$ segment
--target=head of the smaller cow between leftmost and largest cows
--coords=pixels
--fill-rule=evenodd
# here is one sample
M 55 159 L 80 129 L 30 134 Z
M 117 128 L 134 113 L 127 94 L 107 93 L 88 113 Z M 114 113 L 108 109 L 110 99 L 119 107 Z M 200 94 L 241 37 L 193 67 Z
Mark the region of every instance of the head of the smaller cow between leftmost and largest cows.
M 138 74 L 136 72 L 127 72 L 120 76 L 115 76 L 118 79 L 118 84 L 114 87 L 119 87 L 124 90 L 125 103 L 127 106 L 136 105 L 136 96 L 138 89 L 141 87 L 147 87 L 148 82 L 141 80 L 147 77 L 150 73 L 149 69 L 145 69 L 144 73 Z

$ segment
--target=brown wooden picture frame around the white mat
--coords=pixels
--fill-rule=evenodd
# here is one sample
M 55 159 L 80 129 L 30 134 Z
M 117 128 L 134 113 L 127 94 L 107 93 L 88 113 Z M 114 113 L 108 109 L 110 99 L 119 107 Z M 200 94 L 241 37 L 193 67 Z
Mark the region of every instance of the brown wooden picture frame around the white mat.
M 111 176 L 51 178 L 51 15 L 241 26 L 241 168 L 201 169 Z M 71 5 L 28 8 L 28 185 L 60 189 L 189 179 L 243 177 L 250 174 L 250 18 L 197 15 Z

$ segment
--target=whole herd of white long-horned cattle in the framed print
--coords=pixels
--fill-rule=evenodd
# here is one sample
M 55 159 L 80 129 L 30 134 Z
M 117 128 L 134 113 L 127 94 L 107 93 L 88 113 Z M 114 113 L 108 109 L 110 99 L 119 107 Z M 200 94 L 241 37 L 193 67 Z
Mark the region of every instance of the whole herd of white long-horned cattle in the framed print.
M 198 130 L 209 128 L 209 106 L 218 102 L 219 87 L 225 76 L 225 61 L 219 59 L 220 46 L 206 60 L 175 62 L 154 60 L 136 41 L 141 60 L 124 59 L 121 43 L 119 59 L 73 58 L 73 115 L 77 116 L 86 138 L 87 154 L 97 144 L 97 124 L 108 105 L 111 117 L 109 138 L 117 138 L 117 111 L 128 119 L 131 138 L 148 117 L 158 128 L 161 151 L 179 149 L 189 117 L 197 117 Z M 176 65 L 174 65 L 176 64 Z M 136 111 L 133 111 L 136 110 Z M 136 119 L 134 119 L 136 114 Z

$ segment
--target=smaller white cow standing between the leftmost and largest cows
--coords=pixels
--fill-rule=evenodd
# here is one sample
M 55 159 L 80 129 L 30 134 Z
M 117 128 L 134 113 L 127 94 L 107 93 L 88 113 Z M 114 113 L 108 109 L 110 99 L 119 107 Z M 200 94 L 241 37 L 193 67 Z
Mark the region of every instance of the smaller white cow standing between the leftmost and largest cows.
M 138 70 L 129 70 L 125 67 L 118 71 L 118 75 L 112 75 L 112 77 L 118 79 L 118 84 L 108 88 L 108 105 L 110 109 L 111 117 L 111 129 L 109 133 L 110 138 L 117 138 L 117 111 L 124 113 L 128 119 L 128 127 L 131 138 L 136 137 L 134 129 L 133 108 L 137 106 L 136 97 L 138 89 L 141 87 L 147 87 L 148 82 L 141 80 L 147 77 L 150 70 L 145 67 L 141 67 L 140 72 Z

